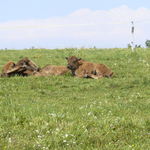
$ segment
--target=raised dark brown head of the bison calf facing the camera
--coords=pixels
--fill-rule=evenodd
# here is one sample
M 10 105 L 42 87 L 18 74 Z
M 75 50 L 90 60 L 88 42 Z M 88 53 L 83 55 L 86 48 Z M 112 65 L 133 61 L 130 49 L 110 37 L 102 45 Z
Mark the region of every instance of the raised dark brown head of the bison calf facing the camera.
M 75 70 L 79 67 L 79 61 L 81 60 L 81 58 L 76 58 L 75 56 L 70 56 L 69 58 L 66 57 L 66 59 L 68 60 L 68 65 L 67 65 L 68 69 Z

